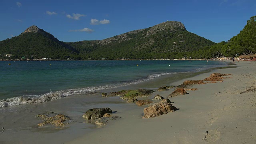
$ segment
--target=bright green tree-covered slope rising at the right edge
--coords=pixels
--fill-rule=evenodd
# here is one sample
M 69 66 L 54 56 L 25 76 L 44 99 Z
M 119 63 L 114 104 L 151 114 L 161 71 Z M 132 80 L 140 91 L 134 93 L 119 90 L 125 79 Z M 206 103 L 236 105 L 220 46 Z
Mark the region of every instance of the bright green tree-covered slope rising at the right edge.
M 216 58 L 235 57 L 250 53 L 256 53 L 256 16 L 252 16 L 243 30 L 227 42 L 223 41 L 213 46 L 206 46 L 201 50 L 184 54 L 194 58 Z

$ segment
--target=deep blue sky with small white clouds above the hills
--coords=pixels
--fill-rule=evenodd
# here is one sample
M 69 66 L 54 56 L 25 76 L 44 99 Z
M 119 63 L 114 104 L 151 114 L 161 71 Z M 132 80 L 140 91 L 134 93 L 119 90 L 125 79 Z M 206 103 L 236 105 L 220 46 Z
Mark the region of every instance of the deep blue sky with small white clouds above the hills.
M 102 40 L 174 20 L 221 42 L 255 15 L 255 0 L 0 0 L 0 40 L 32 25 L 64 42 Z

